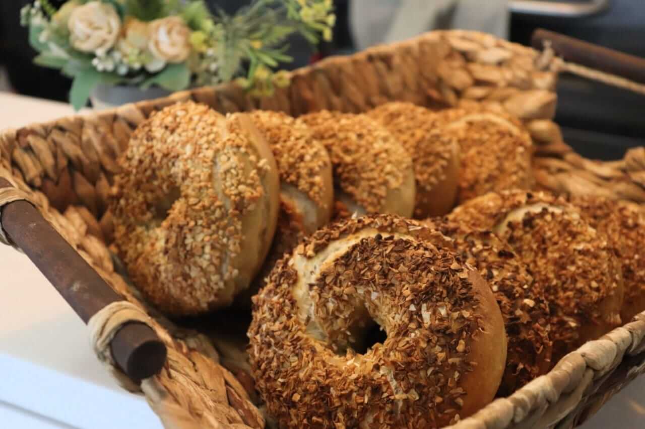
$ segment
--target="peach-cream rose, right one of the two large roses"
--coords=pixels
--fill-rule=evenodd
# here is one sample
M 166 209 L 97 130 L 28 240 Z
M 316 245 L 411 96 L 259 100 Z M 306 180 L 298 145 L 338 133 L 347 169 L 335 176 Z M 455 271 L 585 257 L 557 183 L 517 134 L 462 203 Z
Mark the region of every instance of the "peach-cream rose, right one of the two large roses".
M 186 61 L 190 55 L 190 29 L 177 16 L 152 21 L 148 50 L 163 61 Z

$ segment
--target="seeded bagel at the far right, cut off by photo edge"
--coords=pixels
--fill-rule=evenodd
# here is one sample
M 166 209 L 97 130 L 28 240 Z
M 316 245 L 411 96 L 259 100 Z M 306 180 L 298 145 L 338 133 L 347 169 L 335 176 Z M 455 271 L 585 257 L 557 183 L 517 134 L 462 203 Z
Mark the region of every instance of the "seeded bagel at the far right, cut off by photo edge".
M 570 197 L 591 226 L 605 233 L 617 253 L 625 296 L 620 310 L 622 323 L 645 311 L 645 219 L 624 202 L 598 196 Z

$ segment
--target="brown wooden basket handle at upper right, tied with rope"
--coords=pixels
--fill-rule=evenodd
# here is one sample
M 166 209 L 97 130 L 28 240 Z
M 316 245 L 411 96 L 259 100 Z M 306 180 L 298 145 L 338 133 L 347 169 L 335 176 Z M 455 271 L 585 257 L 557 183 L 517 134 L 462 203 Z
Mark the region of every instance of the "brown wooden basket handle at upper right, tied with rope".
M 645 84 L 645 59 L 541 28 L 535 30 L 531 39 L 533 48 L 542 50 L 545 41 L 551 43 L 551 48 L 564 61 Z

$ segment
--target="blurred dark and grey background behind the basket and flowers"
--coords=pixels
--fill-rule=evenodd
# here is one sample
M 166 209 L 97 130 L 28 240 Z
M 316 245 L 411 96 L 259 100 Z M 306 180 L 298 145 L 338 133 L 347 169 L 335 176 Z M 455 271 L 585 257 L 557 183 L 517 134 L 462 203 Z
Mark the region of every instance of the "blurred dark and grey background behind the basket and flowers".
M 70 81 L 31 62 L 35 52 L 19 24 L 27 3 L 0 1 L 0 90 L 65 101 Z M 208 3 L 232 14 L 250 2 Z M 333 42 L 312 52 L 294 37 L 291 68 L 436 28 L 481 30 L 522 44 L 530 44 L 535 28 L 546 28 L 645 57 L 645 0 L 335 0 L 335 5 Z M 626 148 L 645 144 L 645 98 L 568 75 L 561 76 L 558 95 L 556 121 L 582 155 L 620 158 Z

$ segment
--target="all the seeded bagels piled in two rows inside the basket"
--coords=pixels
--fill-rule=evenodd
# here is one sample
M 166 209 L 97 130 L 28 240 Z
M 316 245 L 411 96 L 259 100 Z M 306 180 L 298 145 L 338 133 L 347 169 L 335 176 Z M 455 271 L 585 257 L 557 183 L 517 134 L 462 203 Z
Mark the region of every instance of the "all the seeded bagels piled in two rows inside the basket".
M 115 245 L 168 316 L 252 301 L 280 427 L 441 427 L 645 310 L 645 220 L 532 191 L 531 148 L 485 108 L 181 102 L 119 159 Z

